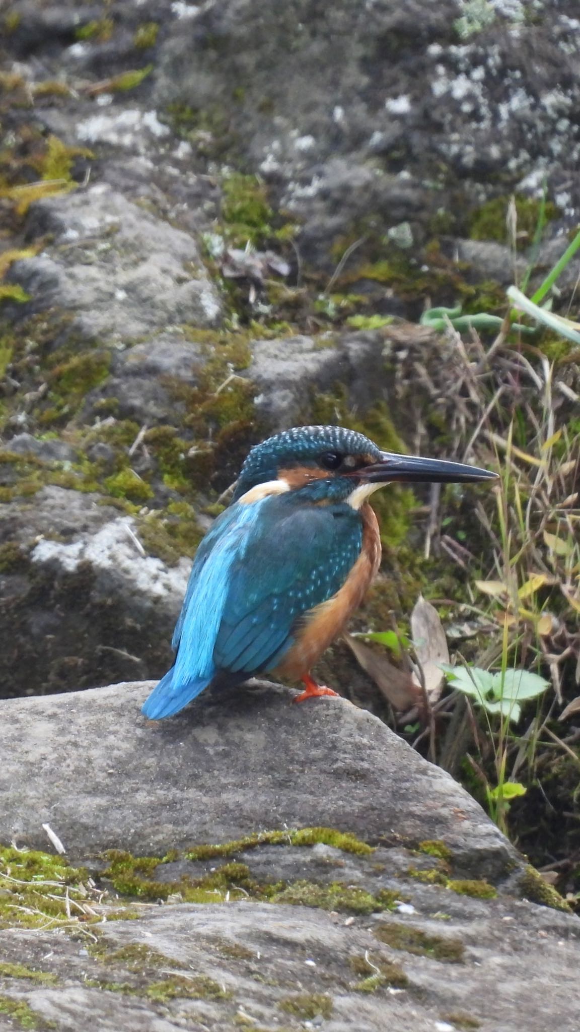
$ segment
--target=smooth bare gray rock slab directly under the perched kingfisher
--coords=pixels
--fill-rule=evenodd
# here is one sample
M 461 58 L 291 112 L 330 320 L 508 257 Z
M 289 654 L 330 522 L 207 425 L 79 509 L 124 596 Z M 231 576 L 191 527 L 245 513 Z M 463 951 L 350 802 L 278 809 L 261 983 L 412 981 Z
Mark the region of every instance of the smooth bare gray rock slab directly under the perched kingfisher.
M 517 865 L 448 774 L 345 700 L 294 707 L 288 688 L 253 682 L 152 723 L 139 712 L 152 687 L 0 704 L 0 839 L 43 845 L 49 820 L 71 856 L 163 854 L 320 825 L 391 845 L 443 839 L 458 870 L 494 879 Z

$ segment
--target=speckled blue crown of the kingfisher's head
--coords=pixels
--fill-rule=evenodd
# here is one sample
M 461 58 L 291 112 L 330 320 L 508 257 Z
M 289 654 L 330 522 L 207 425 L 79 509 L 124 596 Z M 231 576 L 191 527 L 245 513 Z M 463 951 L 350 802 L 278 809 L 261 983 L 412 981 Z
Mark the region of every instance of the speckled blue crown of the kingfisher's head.
M 326 451 L 347 455 L 368 454 L 377 459 L 381 456 L 373 441 L 345 426 L 293 426 L 252 448 L 241 466 L 233 501 L 256 484 L 275 480 L 282 460 L 289 465 L 309 463 Z

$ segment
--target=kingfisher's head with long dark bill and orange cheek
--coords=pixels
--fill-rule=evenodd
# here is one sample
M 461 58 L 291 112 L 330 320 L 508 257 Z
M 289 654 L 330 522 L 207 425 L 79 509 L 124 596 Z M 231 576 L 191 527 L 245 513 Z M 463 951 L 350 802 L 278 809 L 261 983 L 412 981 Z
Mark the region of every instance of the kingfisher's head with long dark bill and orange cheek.
M 260 445 L 244 462 L 233 502 L 316 487 L 358 509 L 373 491 L 392 481 L 474 483 L 495 474 L 460 462 L 384 452 L 363 433 L 344 426 L 294 426 Z

